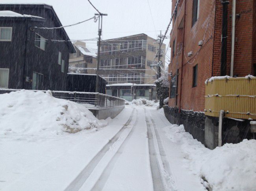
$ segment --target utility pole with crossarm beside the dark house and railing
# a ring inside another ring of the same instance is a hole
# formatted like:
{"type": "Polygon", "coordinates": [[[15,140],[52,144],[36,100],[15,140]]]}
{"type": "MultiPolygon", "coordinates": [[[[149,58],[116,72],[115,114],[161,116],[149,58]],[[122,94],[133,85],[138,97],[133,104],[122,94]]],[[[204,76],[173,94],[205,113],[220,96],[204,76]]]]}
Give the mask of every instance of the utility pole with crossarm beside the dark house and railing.
{"type": "Polygon", "coordinates": [[[98,55],[97,55],[97,70],[96,70],[96,87],[95,92],[99,92],[99,67],[100,67],[100,36],[102,33],[102,16],[108,16],[108,14],[104,13],[95,13],[95,16],[99,18],[99,25],[98,25],[98,55]]]}

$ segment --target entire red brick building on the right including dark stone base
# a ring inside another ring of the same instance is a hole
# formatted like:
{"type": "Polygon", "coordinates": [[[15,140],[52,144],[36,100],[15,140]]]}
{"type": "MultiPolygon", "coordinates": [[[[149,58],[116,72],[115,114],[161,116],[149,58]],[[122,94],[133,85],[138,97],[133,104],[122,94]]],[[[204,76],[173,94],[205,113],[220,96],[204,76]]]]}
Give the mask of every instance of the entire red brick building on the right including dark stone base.
{"type": "MultiPolygon", "coordinates": [[[[180,0],[173,18],[170,99],[165,111],[172,123],[184,124],[186,131],[203,143],[204,82],[211,76],[256,75],[256,0],[236,0],[234,59],[233,1],[180,0]],[[226,12],[223,12],[225,6],[226,12]],[[224,28],[223,18],[226,18],[224,28]],[[226,31],[226,38],[223,31],[226,31]],[[232,60],[234,69],[231,71],[232,60]]],[[[176,0],[173,0],[172,13],[175,4],[176,0]]]]}

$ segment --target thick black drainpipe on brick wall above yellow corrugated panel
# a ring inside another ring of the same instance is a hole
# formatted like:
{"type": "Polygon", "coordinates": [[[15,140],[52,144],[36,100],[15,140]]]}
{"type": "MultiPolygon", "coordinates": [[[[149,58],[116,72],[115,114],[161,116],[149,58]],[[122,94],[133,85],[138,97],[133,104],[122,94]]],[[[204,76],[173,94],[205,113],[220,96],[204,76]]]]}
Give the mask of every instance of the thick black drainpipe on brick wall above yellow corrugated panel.
{"type": "Polygon", "coordinates": [[[221,2],[223,5],[222,13],[222,37],[221,37],[221,76],[226,76],[227,68],[227,35],[228,35],[228,4],[229,1],[221,2]]]}

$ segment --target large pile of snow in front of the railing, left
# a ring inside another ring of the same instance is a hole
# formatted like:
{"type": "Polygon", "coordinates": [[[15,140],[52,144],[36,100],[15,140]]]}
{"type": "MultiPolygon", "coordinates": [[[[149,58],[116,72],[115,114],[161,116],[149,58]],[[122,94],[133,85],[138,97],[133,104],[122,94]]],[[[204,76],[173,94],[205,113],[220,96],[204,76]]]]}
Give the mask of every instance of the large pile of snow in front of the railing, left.
{"type": "Polygon", "coordinates": [[[106,126],[86,107],[54,98],[50,91],[21,90],[0,100],[0,134],[56,135],[106,126]]]}

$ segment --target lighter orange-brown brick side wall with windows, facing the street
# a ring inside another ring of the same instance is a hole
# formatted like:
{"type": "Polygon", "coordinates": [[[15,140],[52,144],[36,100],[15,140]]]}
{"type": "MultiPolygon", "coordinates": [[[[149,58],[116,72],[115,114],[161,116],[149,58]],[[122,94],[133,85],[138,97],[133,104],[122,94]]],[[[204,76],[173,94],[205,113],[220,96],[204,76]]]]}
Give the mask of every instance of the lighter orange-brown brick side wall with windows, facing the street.
{"type": "MultiPolygon", "coordinates": [[[[173,4],[176,1],[173,1],[173,4]]],[[[215,1],[207,0],[200,1],[199,18],[197,22],[192,26],[192,0],[187,0],[186,9],[186,26],[185,26],[185,48],[184,48],[184,69],[182,79],[182,109],[194,109],[196,111],[204,110],[204,81],[211,76],[212,55],[213,55],[213,28],[215,17],[215,1]],[[202,47],[198,46],[198,42],[204,40],[202,47]],[[191,57],[187,56],[187,53],[193,51],[191,57]],[[197,86],[192,87],[193,83],[193,67],[198,64],[198,79],[197,86]]],[[[181,5],[181,9],[184,9],[184,5],[181,5]]],[[[184,10],[180,11],[180,15],[177,16],[178,21],[181,21],[184,16],[184,10]]],[[[176,40],[177,44],[183,41],[183,29],[178,29],[179,23],[176,21],[173,24],[173,31],[171,33],[171,47],[173,40],[176,40]]],[[[176,45],[177,45],[176,44],[176,45]]],[[[172,47],[173,48],[173,47],[172,47]]],[[[176,47],[177,49],[177,47],[176,47]]],[[[178,93],[180,93],[181,87],[181,63],[182,63],[182,51],[180,54],[175,54],[169,65],[169,71],[176,74],[176,69],[179,69],[178,75],[178,93]],[[176,64],[178,62],[178,65],[176,64]]],[[[179,96],[177,103],[179,102],[179,96]]],[[[169,100],[169,106],[175,106],[175,98],[169,100]]]]}

